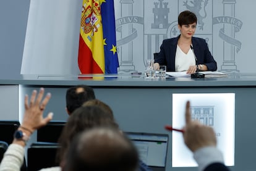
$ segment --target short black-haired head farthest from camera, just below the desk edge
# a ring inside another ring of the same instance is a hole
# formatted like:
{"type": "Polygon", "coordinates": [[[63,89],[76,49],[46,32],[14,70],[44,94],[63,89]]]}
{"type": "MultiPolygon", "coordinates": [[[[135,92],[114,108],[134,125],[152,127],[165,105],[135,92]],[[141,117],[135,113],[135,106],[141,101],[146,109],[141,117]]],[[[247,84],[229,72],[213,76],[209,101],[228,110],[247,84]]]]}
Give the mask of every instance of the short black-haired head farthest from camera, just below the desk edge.
{"type": "Polygon", "coordinates": [[[87,85],[77,85],[70,87],[66,92],[67,114],[72,114],[75,109],[90,99],[95,99],[93,88],[87,85]]]}

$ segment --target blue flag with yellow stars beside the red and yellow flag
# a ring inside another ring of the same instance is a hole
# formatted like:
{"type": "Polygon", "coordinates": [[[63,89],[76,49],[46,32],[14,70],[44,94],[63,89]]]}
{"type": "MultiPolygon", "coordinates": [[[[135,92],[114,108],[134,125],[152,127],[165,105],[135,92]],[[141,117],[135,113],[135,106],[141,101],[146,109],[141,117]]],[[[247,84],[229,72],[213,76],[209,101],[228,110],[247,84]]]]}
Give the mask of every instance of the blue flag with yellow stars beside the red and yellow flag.
{"type": "Polygon", "coordinates": [[[105,73],[117,73],[119,67],[116,48],[116,22],[114,0],[101,1],[101,18],[105,53],[105,73]]]}

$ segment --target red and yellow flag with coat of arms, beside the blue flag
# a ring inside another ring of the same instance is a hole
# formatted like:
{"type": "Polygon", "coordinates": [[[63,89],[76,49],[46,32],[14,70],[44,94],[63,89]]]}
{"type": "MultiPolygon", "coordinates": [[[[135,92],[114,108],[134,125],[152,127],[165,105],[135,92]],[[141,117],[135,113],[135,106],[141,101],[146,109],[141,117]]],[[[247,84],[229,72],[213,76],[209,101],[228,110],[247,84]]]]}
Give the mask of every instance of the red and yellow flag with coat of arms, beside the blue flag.
{"type": "Polygon", "coordinates": [[[78,56],[82,74],[105,73],[101,1],[83,0],[78,56]]]}

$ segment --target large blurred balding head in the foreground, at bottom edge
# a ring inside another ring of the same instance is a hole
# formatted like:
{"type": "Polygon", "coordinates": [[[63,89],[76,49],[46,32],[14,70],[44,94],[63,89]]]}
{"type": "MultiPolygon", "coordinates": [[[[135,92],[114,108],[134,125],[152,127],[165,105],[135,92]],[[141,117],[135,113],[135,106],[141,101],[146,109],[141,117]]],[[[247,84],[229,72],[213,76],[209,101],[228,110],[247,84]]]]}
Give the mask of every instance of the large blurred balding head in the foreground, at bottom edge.
{"type": "Polygon", "coordinates": [[[93,128],[70,144],[65,171],[135,171],[139,155],[134,144],[119,130],[93,128]]]}

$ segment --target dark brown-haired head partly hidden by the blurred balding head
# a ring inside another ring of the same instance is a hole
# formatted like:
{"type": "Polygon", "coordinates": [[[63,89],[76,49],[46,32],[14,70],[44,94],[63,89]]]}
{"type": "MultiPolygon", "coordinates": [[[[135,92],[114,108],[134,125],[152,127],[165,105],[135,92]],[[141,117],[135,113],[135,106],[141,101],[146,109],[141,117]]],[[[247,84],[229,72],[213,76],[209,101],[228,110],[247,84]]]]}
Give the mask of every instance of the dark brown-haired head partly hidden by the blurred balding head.
{"type": "Polygon", "coordinates": [[[59,137],[58,142],[61,148],[56,157],[57,162],[63,161],[67,148],[75,135],[95,127],[118,129],[119,125],[114,121],[113,116],[104,111],[100,106],[82,106],[75,109],[72,115],[69,116],[59,137]]]}

